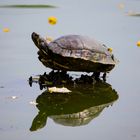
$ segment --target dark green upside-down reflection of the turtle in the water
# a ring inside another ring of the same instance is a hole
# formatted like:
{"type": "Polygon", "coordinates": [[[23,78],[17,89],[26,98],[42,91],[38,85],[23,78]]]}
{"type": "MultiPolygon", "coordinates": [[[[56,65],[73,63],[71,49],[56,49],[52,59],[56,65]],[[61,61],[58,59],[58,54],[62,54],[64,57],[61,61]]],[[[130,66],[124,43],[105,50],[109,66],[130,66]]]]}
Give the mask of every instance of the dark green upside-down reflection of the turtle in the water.
{"type": "Polygon", "coordinates": [[[44,91],[37,97],[36,107],[39,112],[32,122],[31,131],[43,128],[48,117],[65,126],[86,125],[118,99],[111,85],[102,81],[94,85],[67,88],[72,92],[59,94],[44,91]]]}

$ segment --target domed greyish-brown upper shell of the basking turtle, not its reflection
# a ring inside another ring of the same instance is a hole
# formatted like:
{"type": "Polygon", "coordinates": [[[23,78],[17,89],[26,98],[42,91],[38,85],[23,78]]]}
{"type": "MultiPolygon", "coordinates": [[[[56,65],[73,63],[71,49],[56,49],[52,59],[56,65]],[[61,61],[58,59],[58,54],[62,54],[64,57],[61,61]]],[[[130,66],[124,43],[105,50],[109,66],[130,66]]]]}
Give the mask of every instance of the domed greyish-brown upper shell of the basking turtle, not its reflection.
{"type": "Polygon", "coordinates": [[[89,37],[67,35],[49,43],[49,49],[63,57],[79,58],[94,63],[115,65],[117,60],[108,48],[89,37]]]}

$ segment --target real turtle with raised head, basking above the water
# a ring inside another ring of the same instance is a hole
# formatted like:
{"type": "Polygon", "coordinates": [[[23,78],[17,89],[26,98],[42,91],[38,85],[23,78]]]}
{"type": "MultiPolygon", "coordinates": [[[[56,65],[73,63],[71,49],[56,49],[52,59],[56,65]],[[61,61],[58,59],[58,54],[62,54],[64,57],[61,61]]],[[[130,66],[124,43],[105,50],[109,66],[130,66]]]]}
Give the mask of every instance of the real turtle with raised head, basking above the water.
{"type": "Polygon", "coordinates": [[[109,73],[118,60],[105,44],[83,35],[64,35],[50,43],[33,32],[31,38],[38,47],[39,60],[53,70],[93,72],[95,78],[109,73]]]}

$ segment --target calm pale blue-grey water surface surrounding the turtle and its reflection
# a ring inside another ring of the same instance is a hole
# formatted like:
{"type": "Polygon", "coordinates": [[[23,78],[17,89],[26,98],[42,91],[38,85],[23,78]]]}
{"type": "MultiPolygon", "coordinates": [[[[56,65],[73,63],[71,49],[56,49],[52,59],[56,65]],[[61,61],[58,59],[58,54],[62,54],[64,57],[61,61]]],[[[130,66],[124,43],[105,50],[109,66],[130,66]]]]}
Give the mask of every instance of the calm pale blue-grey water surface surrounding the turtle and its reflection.
{"type": "MultiPolygon", "coordinates": [[[[35,4],[28,1],[26,4],[35,4]]],[[[140,18],[127,12],[140,12],[138,0],[40,1],[58,6],[54,9],[0,8],[0,139],[140,139],[140,18]],[[118,7],[120,3],[124,8],[118,7]],[[56,16],[55,26],[48,24],[49,16],[56,16]],[[10,32],[2,29],[8,27],[10,32]],[[113,48],[120,60],[108,75],[107,82],[117,91],[119,99],[104,108],[87,125],[70,127],[55,123],[48,117],[47,124],[31,132],[33,119],[38,114],[31,101],[42,94],[36,84],[29,87],[30,75],[42,74],[46,69],[37,59],[37,48],[31,40],[36,31],[42,36],[57,38],[65,34],[94,37],[113,48]],[[16,96],[14,99],[12,97],[16,96]]],[[[25,4],[25,1],[3,1],[2,4],[25,4]]]]}

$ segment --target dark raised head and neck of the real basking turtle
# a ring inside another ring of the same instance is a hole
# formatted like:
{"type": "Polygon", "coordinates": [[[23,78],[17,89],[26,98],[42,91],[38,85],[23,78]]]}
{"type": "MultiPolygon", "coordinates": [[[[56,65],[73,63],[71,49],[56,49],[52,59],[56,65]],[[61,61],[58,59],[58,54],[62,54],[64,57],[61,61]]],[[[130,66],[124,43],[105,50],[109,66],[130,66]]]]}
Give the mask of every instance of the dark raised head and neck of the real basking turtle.
{"type": "Polygon", "coordinates": [[[34,44],[39,49],[43,49],[43,50],[47,49],[48,44],[47,44],[46,40],[43,37],[41,37],[39,34],[37,34],[35,32],[32,33],[31,37],[32,37],[32,40],[33,40],[34,44]]]}

